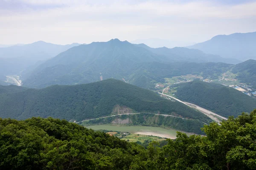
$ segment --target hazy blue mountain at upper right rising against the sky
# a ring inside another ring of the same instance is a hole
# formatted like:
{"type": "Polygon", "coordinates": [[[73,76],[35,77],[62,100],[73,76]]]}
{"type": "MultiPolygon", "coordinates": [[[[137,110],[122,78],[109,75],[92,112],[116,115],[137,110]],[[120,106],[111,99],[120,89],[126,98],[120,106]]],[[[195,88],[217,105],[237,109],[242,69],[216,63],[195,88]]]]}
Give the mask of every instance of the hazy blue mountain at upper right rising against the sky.
{"type": "Polygon", "coordinates": [[[207,54],[216,54],[224,58],[242,61],[256,59],[256,32],[217,35],[211,40],[188,46],[207,54]]]}

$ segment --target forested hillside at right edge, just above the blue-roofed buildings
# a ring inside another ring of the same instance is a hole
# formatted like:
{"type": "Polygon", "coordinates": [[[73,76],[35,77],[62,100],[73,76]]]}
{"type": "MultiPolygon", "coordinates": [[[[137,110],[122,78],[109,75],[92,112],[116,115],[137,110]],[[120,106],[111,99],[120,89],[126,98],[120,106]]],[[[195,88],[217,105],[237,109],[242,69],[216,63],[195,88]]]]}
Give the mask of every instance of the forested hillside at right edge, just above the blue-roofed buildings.
{"type": "Polygon", "coordinates": [[[247,83],[252,85],[253,88],[256,90],[256,60],[249,59],[245,62],[237,64],[235,67],[232,68],[232,72],[234,74],[238,74],[236,77],[241,82],[247,83]]]}

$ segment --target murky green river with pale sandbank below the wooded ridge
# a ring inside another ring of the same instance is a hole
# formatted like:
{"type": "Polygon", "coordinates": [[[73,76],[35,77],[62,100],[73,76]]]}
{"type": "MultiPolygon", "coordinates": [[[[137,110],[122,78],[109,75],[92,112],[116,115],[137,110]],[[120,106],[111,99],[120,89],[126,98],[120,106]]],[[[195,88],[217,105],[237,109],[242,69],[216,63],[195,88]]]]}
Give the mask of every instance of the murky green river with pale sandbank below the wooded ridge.
{"type": "Polygon", "coordinates": [[[91,128],[93,130],[112,130],[119,132],[129,132],[129,133],[137,133],[141,135],[147,136],[159,136],[163,138],[176,138],[177,130],[173,129],[164,129],[161,127],[152,127],[152,126],[113,126],[113,125],[93,125],[87,126],[87,128],[91,128]]]}

